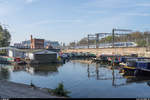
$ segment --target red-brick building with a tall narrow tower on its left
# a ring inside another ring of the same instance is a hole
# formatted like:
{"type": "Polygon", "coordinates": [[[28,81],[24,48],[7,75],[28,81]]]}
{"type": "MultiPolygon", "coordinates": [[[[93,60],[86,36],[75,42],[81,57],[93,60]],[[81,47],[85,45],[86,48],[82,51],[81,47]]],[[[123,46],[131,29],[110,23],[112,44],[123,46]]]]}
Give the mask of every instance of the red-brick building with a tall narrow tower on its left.
{"type": "Polygon", "coordinates": [[[44,49],[44,39],[36,39],[31,35],[31,49],[44,49]]]}

